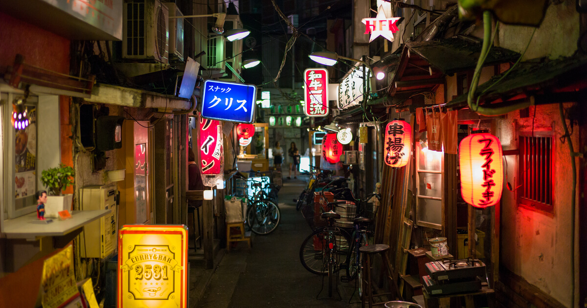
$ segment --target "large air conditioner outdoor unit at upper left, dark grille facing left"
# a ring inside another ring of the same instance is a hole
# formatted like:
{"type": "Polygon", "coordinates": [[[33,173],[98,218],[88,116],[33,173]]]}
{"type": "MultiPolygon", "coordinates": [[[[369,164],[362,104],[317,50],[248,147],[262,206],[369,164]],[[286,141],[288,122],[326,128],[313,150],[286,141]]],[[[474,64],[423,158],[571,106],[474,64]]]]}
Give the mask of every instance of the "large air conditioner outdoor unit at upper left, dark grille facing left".
{"type": "Polygon", "coordinates": [[[122,57],[168,63],[168,9],[159,0],[124,0],[122,57]]]}

